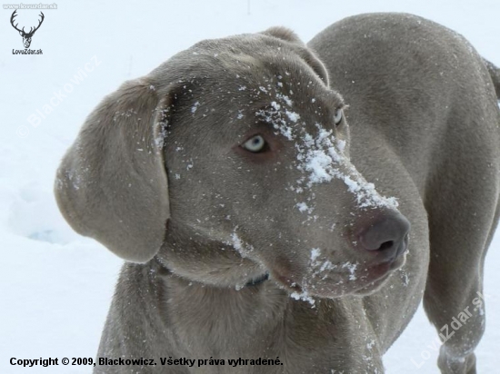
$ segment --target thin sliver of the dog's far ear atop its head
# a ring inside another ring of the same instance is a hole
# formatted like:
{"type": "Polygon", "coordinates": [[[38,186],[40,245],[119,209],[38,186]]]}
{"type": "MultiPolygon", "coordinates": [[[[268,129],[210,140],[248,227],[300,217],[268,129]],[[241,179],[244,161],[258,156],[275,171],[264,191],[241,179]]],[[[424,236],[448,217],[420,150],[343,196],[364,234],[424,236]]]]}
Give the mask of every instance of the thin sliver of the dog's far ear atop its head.
{"type": "Polygon", "coordinates": [[[307,47],[292,30],[282,26],[275,26],[268,28],[261,34],[273,36],[285,42],[295,44],[296,54],[302,57],[306,64],[311,66],[315,74],[321,78],[326,86],[329,85],[328,72],[326,71],[325,64],[320,61],[316,54],[309,47],[307,47]]]}

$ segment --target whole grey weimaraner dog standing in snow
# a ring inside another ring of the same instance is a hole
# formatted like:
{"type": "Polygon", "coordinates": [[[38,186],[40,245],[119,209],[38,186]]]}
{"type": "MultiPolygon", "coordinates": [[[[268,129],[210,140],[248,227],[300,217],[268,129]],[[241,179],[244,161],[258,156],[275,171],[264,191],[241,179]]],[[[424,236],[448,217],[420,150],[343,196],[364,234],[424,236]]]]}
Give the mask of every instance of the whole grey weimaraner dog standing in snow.
{"type": "Polygon", "coordinates": [[[205,40],[123,84],[55,183],[127,261],[95,373],[383,373],[422,298],[441,371],[475,373],[499,94],[403,14],[205,40]]]}

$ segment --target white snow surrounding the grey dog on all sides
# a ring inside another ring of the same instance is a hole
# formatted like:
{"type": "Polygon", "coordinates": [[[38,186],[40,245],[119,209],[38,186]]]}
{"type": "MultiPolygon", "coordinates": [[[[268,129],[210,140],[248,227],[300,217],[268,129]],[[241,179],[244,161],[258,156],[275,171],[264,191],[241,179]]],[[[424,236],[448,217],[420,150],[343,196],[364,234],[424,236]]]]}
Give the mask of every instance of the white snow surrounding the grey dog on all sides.
{"type": "MultiPolygon", "coordinates": [[[[57,10],[44,11],[44,24],[33,37],[31,48],[42,48],[43,55],[29,56],[12,54],[13,48],[23,48],[22,40],[9,24],[12,10],[0,10],[0,373],[91,371],[78,366],[23,369],[10,366],[9,359],[95,356],[121,261],[71,231],[55,207],[52,184],[85,115],[125,79],[146,74],[204,38],[285,25],[309,40],[347,15],[374,11],[424,15],[464,34],[500,64],[497,0],[124,3],[58,1],[57,10]],[[75,80],[87,63],[94,70],[75,80]],[[53,99],[58,92],[65,97],[53,99]],[[36,111],[51,100],[57,103],[52,113],[36,126],[27,120],[39,116],[36,111]]],[[[18,13],[21,25],[35,25],[38,12],[18,13]]],[[[477,349],[480,373],[498,372],[500,366],[498,263],[500,234],[486,261],[488,322],[477,349]]],[[[420,310],[386,355],[387,373],[437,373],[435,359],[435,333],[420,310]],[[427,352],[430,358],[422,359],[427,352]]]]}

